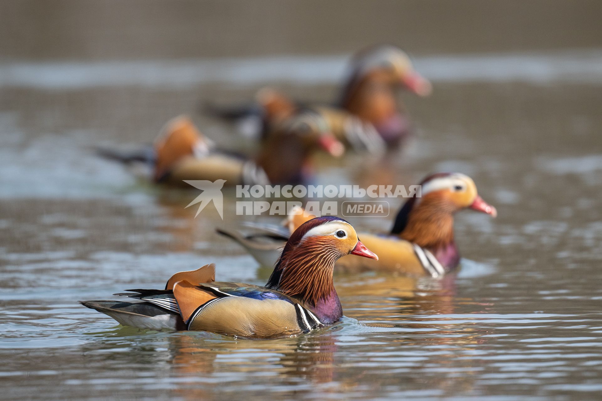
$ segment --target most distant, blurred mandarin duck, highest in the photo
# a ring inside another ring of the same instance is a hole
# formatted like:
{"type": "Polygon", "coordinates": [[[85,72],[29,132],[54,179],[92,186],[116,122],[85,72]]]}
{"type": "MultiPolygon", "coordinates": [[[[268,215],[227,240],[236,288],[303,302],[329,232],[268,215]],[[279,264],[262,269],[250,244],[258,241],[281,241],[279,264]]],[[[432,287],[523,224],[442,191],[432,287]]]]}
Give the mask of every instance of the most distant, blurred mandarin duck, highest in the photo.
{"type": "Polygon", "coordinates": [[[338,138],[357,150],[373,152],[372,147],[402,144],[411,132],[408,115],[398,100],[400,88],[418,96],[428,96],[432,91],[430,82],[414,70],[408,55],[399,47],[386,44],[368,47],[352,58],[338,99],[331,106],[301,105],[272,88],[264,88],[256,94],[252,106],[220,108],[209,105],[206,109],[210,114],[237,121],[241,132],[249,136],[259,136],[258,132],[264,132],[270,124],[287,118],[300,108],[314,109],[326,118],[345,121],[342,126],[348,128],[337,131],[338,138]],[[358,127],[352,127],[358,122],[362,126],[359,133],[358,127]],[[371,136],[373,131],[380,138],[371,136]],[[366,147],[368,139],[376,143],[366,147]]]}

